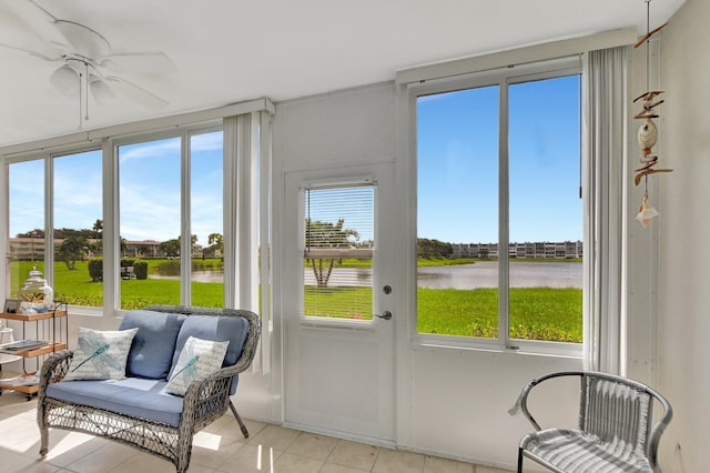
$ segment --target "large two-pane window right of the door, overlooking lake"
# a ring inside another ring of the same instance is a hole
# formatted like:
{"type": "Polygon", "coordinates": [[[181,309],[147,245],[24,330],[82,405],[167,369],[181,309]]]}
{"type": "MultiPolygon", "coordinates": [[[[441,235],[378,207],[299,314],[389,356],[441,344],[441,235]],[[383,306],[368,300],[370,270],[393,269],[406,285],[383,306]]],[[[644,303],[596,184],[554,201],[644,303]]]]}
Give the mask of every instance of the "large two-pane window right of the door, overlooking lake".
{"type": "Polygon", "coordinates": [[[578,350],[579,67],[511,68],[415,93],[418,333],[578,350]]]}

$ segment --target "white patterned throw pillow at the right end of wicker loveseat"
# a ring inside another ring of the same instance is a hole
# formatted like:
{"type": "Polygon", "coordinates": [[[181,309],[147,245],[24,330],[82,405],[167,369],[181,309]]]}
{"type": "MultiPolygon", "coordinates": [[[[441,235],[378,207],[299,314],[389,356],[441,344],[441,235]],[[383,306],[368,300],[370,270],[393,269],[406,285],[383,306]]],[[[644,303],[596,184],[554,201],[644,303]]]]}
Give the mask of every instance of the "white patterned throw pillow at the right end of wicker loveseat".
{"type": "Polygon", "coordinates": [[[175,364],[165,386],[165,392],[185,395],[190,383],[222,368],[229,345],[229,341],[214,342],[190,336],[180,352],[178,364],[175,364]]]}

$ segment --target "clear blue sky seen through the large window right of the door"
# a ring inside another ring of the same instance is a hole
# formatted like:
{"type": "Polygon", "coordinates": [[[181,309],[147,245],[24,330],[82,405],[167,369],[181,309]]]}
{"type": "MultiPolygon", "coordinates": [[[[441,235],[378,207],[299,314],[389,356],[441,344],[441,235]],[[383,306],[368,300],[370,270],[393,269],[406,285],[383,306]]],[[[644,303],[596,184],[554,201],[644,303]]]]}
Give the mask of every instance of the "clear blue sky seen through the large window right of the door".
{"type": "MultiPolygon", "coordinates": [[[[498,89],[417,104],[418,236],[498,241],[498,89]]],[[[510,241],[582,239],[579,78],[509,89],[510,241]]]]}

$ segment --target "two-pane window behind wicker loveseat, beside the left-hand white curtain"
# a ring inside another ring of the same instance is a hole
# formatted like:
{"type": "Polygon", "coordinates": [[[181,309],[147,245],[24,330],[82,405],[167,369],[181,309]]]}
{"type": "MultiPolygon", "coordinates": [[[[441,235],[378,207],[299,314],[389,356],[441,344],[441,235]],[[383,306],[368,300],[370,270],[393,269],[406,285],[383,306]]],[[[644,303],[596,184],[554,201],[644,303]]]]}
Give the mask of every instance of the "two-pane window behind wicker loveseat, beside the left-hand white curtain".
{"type": "Polygon", "coordinates": [[[122,144],[118,155],[121,309],[223,306],[222,131],[122,144]]]}

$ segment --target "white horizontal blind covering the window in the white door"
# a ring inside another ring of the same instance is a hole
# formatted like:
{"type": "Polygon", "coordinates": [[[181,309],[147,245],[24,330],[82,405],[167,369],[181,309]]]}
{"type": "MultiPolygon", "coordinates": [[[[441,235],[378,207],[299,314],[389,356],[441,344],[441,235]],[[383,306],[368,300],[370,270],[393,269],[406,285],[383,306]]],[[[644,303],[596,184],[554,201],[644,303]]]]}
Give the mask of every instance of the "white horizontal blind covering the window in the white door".
{"type": "Polygon", "coordinates": [[[372,320],[375,188],[304,188],[305,316],[372,320]]]}

